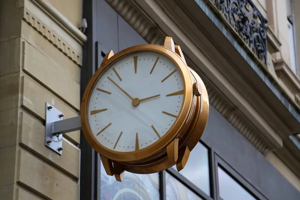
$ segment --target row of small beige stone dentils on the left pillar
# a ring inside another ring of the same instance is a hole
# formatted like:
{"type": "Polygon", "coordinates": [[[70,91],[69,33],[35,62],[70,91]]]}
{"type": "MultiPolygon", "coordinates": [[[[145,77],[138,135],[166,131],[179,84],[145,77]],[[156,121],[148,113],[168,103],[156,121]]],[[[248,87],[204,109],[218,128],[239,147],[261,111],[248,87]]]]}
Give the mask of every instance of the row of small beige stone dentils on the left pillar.
{"type": "Polygon", "coordinates": [[[23,20],[32,26],[38,33],[40,33],[73,62],[81,66],[81,54],[75,52],[70,45],[63,41],[53,30],[47,27],[40,19],[38,19],[26,8],[24,8],[23,20]]]}

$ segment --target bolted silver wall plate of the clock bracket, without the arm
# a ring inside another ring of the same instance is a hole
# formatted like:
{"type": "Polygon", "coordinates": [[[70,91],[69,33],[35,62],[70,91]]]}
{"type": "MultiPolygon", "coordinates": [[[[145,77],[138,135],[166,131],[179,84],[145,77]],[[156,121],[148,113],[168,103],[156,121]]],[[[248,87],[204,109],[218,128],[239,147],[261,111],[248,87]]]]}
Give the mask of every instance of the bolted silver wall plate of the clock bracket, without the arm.
{"type": "Polygon", "coordinates": [[[62,154],[62,150],[58,150],[59,147],[62,147],[62,134],[53,135],[53,122],[62,120],[62,117],[59,117],[60,112],[53,105],[46,102],[46,117],[45,117],[45,146],[51,148],[58,154],[62,154]],[[50,108],[51,107],[51,108],[50,108]]]}

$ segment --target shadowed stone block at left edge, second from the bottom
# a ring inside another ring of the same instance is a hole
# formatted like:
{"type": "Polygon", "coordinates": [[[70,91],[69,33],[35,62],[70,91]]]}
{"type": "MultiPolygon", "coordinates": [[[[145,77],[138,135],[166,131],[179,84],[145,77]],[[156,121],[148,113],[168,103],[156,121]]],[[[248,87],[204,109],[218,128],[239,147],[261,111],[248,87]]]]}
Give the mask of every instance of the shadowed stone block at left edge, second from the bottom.
{"type": "Polygon", "coordinates": [[[14,183],[16,145],[0,148],[0,187],[14,183]]]}

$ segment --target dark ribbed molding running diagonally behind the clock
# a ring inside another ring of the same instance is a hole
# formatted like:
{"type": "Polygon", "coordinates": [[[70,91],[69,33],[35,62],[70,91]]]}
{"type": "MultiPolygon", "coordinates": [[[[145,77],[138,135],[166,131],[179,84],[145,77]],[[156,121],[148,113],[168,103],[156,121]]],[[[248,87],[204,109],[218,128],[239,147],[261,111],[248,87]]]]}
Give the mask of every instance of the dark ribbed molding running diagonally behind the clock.
{"type": "MultiPolygon", "coordinates": [[[[131,0],[105,0],[147,42],[162,44],[165,34],[131,0]]],[[[273,151],[269,142],[229,101],[203,79],[209,103],[221,113],[263,155],[273,151]]]]}

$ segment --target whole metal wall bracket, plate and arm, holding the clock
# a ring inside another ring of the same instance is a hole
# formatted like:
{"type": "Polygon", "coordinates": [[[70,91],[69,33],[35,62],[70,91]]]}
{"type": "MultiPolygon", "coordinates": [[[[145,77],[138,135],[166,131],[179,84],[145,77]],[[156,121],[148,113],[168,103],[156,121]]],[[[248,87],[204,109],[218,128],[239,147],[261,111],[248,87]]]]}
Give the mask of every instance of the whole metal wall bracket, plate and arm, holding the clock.
{"type": "Polygon", "coordinates": [[[45,109],[45,146],[61,155],[63,150],[62,134],[80,130],[80,116],[63,119],[63,113],[47,102],[45,109]]]}

